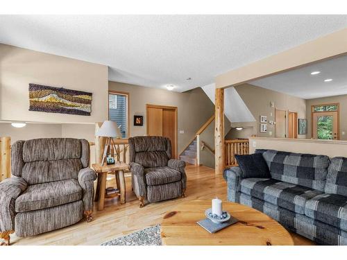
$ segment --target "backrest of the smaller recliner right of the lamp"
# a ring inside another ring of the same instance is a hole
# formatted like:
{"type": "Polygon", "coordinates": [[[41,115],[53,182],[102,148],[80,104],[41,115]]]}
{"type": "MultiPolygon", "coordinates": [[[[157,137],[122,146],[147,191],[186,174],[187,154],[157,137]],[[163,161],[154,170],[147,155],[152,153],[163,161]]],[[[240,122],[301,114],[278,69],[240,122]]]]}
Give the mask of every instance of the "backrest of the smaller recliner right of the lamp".
{"type": "Polygon", "coordinates": [[[130,137],[130,162],[144,168],[167,166],[171,159],[171,141],[167,137],[130,137]]]}

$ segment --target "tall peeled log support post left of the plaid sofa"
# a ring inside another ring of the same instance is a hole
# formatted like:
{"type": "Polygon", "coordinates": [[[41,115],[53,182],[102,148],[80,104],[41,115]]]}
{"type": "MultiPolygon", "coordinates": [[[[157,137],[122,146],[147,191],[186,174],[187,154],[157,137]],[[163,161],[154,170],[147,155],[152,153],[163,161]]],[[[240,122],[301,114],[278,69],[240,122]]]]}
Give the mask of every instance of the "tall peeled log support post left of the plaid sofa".
{"type": "Polygon", "coordinates": [[[224,153],[224,89],[216,89],[214,124],[214,171],[217,174],[223,174],[226,156],[224,153]]]}

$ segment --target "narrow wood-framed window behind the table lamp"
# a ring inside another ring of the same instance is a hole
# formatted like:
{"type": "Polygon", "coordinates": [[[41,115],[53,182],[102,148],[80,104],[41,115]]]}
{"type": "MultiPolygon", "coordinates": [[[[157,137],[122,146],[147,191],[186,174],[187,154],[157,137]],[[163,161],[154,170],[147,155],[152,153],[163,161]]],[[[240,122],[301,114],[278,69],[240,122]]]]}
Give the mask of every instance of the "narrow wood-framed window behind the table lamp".
{"type": "Polygon", "coordinates": [[[121,138],[128,138],[128,94],[108,93],[108,120],[115,121],[121,130],[121,138]]]}

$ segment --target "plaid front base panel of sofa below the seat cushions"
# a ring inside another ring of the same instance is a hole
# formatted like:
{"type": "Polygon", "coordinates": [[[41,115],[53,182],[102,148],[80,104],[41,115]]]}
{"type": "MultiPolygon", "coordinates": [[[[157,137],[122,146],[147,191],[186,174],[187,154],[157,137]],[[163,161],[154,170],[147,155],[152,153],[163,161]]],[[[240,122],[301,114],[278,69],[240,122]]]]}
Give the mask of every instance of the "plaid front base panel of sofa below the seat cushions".
{"type": "Polygon", "coordinates": [[[239,193],[238,197],[241,204],[264,212],[264,214],[277,220],[285,228],[316,243],[322,245],[347,245],[347,232],[342,229],[244,193],[239,193]]]}

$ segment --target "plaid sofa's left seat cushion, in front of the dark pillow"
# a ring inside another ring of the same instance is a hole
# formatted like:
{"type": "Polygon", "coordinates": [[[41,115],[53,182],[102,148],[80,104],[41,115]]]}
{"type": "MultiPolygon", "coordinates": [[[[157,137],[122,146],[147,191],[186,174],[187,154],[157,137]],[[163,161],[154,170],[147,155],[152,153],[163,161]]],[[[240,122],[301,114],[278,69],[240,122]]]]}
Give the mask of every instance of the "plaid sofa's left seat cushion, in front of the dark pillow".
{"type": "Polygon", "coordinates": [[[300,185],[264,178],[242,180],[241,192],[298,214],[305,214],[307,200],[322,193],[300,185]]]}

